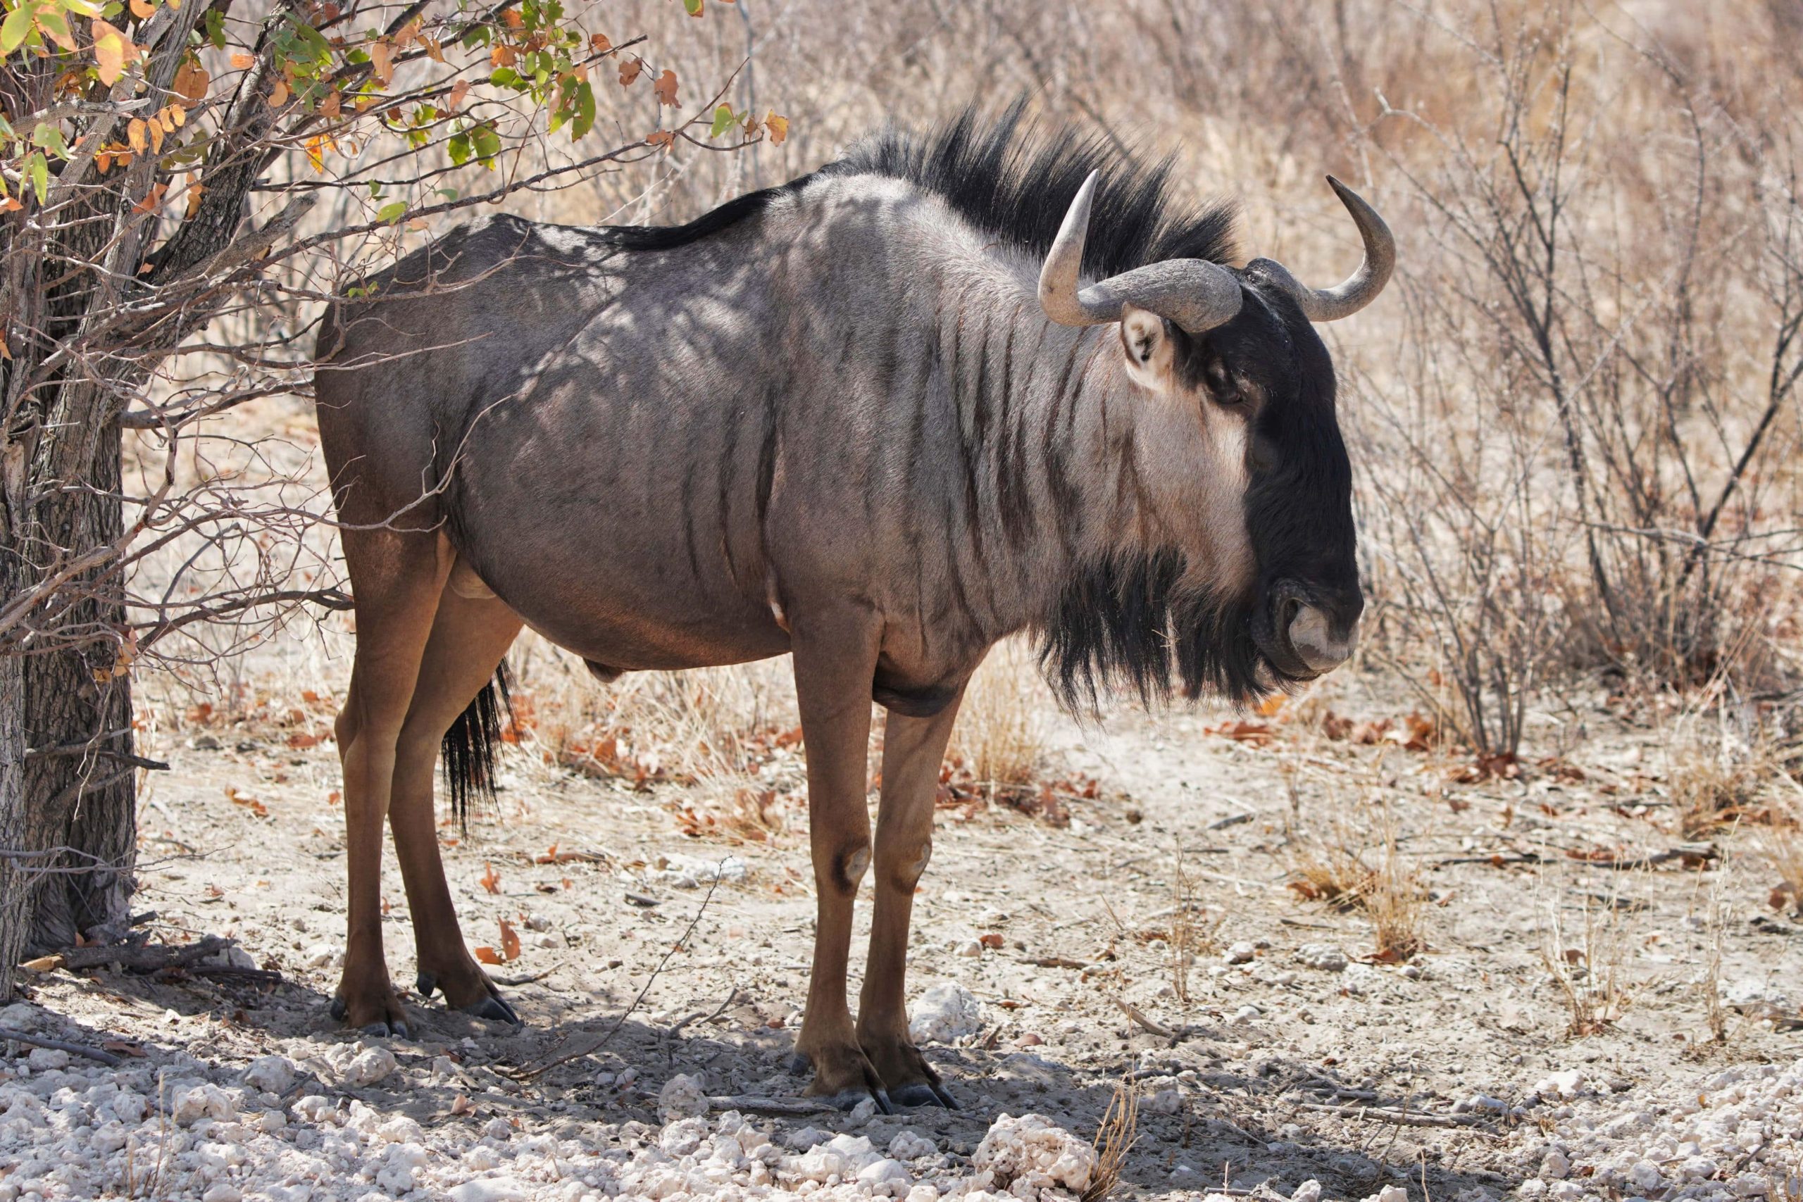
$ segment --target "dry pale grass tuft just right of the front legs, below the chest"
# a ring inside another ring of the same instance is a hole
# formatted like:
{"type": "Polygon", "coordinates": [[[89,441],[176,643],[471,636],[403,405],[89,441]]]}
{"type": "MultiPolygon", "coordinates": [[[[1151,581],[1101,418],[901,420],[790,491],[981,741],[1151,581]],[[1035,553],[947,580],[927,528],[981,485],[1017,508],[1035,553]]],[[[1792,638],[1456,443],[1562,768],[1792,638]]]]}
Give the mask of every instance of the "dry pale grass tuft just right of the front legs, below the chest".
{"type": "Polygon", "coordinates": [[[990,793],[1030,786],[1046,753],[1048,701],[1028,642],[997,643],[965,690],[950,755],[990,793]]]}

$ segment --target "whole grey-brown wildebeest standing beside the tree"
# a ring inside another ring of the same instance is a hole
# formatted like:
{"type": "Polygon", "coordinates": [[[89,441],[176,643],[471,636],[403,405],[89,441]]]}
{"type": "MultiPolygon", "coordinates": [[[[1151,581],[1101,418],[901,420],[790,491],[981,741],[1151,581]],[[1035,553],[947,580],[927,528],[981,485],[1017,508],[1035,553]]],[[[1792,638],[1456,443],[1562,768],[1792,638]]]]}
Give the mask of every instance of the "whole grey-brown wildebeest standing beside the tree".
{"type": "Polygon", "coordinates": [[[337,305],[317,404],[357,652],[335,1013],[404,1033],[386,816],[422,993],[514,1020],[458,930],[433,762],[442,742],[456,802],[485,786],[521,625],[604,681],[788,652],[819,888],[810,1092],[950,1103],[909,1040],[903,961],[984,652],[1037,634],[1084,706],[1111,681],[1248,699],[1352,649],[1350,465],[1311,323],[1368,305],[1394,249],[1332,186],[1365,260],[1314,290],[1269,260],[1224,267],[1231,209],[1185,213],[1165,169],[966,115],[687,225],[496,216],[337,305]]]}

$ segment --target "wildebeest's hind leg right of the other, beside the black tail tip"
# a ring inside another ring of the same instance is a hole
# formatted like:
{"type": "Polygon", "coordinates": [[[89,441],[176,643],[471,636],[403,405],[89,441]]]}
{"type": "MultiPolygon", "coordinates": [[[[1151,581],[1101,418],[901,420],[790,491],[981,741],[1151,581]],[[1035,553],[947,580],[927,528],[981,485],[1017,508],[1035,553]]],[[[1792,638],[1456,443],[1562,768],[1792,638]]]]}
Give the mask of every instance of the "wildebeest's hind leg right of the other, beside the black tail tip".
{"type": "Polygon", "coordinates": [[[519,1016],[469,953],[438,858],[433,766],[445,732],[494,678],[519,625],[519,616],[501,600],[463,596],[456,587],[445,587],[420,661],[413,705],[395,746],[393,800],[388,807],[400,879],[407,887],[407,910],[413,914],[420,993],[444,989],[453,1009],[505,1022],[519,1022],[519,1016]]]}

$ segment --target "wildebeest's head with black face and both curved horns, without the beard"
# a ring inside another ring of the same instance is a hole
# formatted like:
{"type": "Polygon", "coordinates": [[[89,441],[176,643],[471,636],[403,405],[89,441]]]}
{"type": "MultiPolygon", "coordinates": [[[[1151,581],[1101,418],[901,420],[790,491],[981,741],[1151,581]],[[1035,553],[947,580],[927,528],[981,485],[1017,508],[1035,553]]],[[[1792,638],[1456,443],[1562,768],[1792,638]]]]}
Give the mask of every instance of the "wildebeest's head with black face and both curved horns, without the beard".
{"type": "MultiPolygon", "coordinates": [[[[1396,249],[1383,218],[1329,177],[1365,241],[1341,285],[1307,288],[1280,263],[1242,270],[1168,260],[1080,287],[1096,175],[1084,182],[1046,256],[1039,297],[1060,324],[1120,323],[1127,373],[1194,405],[1206,442],[1231,447],[1215,470],[1242,490],[1251,638],[1278,681],[1313,679],[1352,654],[1358,584],[1352,470],[1334,416],[1334,368],[1313,323],[1336,321],[1383,290],[1396,249]]],[[[1204,515],[1199,515],[1204,517],[1204,515]]]]}

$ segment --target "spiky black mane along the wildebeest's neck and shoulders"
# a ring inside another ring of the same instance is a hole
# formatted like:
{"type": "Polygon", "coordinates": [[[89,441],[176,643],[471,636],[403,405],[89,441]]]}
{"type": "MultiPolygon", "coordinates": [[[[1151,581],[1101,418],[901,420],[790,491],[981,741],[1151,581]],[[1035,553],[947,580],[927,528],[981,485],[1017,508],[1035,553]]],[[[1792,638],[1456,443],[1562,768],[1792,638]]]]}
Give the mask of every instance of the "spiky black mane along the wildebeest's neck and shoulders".
{"type": "Polygon", "coordinates": [[[966,108],[932,133],[889,128],[844,159],[777,187],[736,196],[687,225],[615,225],[604,236],[626,250],[669,250],[707,238],[795,193],[817,175],[887,175],[945,200],[983,232],[1046,254],[1066,209],[1091,171],[1102,171],[1084,245],[1084,270],[1116,276],[1163,260],[1233,258],[1233,202],[1190,211],[1170,195],[1172,162],[1147,164],[1098,133],[1042,132],[1017,101],[988,119],[966,108]]]}

